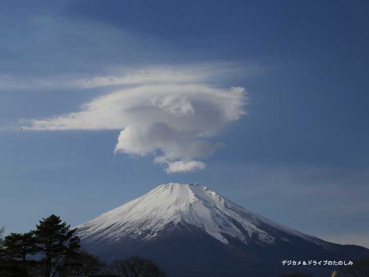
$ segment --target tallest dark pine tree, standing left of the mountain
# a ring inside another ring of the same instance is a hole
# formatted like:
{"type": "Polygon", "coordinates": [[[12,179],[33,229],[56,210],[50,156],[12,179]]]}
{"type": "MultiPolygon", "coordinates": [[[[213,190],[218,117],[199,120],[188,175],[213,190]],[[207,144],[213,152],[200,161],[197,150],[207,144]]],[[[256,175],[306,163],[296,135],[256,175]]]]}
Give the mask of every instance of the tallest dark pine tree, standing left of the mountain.
{"type": "Polygon", "coordinates": [[[55,214],[43,218],[36,228],[37,246],[44,254],[45,277],[54,277],[67,259],[78,255],[79,238],[74,235],[77,229],[70,230],[70,225],[55,214]]]}

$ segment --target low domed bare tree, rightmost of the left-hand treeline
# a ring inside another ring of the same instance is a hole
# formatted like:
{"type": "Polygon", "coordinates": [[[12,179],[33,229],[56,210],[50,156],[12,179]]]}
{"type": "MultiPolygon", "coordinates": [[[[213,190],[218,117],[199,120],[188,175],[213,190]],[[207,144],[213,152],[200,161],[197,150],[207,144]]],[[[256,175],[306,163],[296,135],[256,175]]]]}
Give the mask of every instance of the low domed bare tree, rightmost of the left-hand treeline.
{"type": "Polygon", "coordinates": [[[166,277],[167,274],[152,261],[132,257],[128,260],[113,261],[112,269],[119,277],[166,277]]]}

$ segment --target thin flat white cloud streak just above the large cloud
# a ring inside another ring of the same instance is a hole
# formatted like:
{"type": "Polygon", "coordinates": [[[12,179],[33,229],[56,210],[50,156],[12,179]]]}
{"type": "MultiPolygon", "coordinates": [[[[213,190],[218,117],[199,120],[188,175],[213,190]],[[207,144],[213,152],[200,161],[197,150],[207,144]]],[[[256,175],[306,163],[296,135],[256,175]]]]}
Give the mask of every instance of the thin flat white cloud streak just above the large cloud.
{"type": "Polygon", "coordinates": [[[59,73],[44,76],[0,73],[1,90],[29,89],[93,89],[148,84],[189,84],[220,82],[229,75],[243,77],[258,74],[261,66],[236,66],[232,63],[199,63],[190,66],[119,66],[106,69],[105,74],[59,73]]]}

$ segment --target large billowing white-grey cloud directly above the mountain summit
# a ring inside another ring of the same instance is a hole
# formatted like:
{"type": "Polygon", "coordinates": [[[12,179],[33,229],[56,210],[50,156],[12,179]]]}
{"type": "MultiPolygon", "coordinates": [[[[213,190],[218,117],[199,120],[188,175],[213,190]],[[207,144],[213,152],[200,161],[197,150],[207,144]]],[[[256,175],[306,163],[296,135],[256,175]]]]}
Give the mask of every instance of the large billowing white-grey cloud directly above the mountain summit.
{"type": "Polygon", "coordinates": [[[167,173],[201,170],[220,144],[208,141],[245,112],[241,87],[146,85],[95,98],[72,112],[29,120],[32,130],[121,130],[115,153],[146,156],[167,173]]]}

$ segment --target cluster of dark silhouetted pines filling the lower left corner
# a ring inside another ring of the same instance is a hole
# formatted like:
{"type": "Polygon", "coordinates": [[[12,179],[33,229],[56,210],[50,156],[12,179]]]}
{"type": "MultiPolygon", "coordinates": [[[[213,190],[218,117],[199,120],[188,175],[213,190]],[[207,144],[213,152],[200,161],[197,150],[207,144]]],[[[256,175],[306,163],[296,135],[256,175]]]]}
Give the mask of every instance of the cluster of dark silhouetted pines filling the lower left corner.
{"type": "Polygon", "coordinates": [[[2,239],[4,228],[0,229],[0,276],[59,277],[72,264],[82,267],[72,263],[83,256],[75,231],[54,214],[40,221],[35,231],[11,233],[2,239]],[[34,255],[37,259],[33,260],[34,255]]]}

